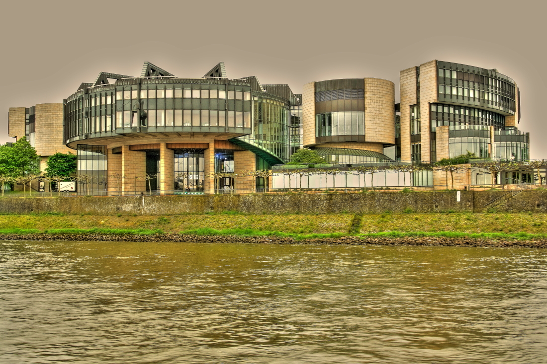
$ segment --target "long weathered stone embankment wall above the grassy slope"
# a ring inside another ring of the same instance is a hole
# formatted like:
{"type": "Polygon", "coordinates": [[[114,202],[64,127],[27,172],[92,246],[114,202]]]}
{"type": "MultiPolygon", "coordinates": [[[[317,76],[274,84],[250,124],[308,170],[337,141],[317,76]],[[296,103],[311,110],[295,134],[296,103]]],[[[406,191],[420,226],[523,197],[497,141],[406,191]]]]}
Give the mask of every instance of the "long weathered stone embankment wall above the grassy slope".
{"type": "Polygon", "coordinates": [[[0,198],[3,214],[336,214],[416,212],[547,213],[547,191],[367,192],[330,194],[0,198]]]}

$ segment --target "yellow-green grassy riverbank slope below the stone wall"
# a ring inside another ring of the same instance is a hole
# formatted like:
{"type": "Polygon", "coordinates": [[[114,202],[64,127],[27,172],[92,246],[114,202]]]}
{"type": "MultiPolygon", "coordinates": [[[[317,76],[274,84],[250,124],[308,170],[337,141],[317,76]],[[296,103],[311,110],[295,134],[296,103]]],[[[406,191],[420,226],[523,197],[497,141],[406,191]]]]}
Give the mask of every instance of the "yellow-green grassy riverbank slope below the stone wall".
{"type": "MultiPolygon", "coordinates": [[[[0,230],[109,234],[288,234],[331,237],[348,233],[352,214],[335,215],[0,215],[0,230]],[[208,230],[207,230],[208,229],[208,230]]],[[[365,214],[359,233],[547,234],[547,214],[365,214]]],[[[30,232],[29,232],[30,233],[30,232]]],[[[433,235],[432,235],[433,236],[433,235]]]]}

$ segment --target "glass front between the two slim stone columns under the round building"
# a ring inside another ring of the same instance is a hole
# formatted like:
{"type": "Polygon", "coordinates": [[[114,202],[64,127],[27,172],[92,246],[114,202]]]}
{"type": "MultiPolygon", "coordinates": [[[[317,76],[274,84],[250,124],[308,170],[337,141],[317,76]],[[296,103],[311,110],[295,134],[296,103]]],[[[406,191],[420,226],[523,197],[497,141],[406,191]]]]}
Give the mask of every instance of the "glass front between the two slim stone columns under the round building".
{"type": "Polygon", "coordinates": [[[202,191],[205,185],[204,149],[177,149],[174,151],[174,189],[202,191]]]}

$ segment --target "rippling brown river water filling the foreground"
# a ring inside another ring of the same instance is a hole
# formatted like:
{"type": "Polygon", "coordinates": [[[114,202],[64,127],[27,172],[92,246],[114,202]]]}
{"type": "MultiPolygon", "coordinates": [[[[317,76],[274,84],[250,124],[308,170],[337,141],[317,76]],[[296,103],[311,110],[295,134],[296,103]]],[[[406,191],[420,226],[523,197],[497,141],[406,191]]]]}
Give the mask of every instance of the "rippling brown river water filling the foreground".
{"type": "Polygon", "coordinates": [[[1,363],[547,362],[547,250],[0,244],[1,363]]]}

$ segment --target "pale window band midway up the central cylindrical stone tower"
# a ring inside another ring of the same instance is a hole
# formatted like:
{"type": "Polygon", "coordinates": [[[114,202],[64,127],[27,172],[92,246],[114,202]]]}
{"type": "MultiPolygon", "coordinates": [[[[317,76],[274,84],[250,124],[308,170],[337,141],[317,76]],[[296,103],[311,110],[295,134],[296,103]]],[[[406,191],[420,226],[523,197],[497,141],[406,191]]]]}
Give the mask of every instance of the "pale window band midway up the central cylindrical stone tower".
{"type": "Polygon", "coordinates": [[[363,111],[317,114],[315,122],[316,137],[365,134],[365,113],[363,111]]]}

